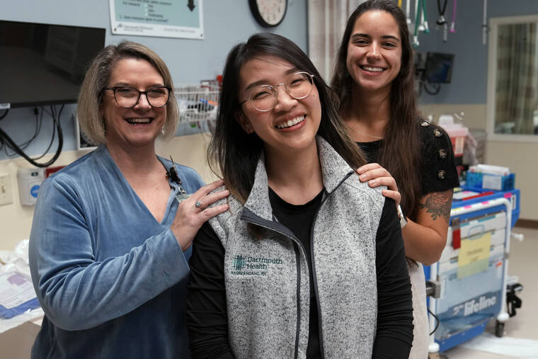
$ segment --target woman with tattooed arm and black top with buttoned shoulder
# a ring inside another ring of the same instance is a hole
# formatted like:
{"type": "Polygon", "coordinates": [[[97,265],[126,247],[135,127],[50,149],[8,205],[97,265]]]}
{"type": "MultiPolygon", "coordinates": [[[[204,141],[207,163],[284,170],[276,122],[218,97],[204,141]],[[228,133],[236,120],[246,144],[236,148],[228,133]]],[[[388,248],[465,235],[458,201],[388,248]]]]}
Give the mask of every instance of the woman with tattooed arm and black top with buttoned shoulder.
{"type": "Polygon", "coordinates": [[[358,170],[361,181],[379,186],[394,183],[390,176],[396,180],[384,195],[396,202],[401,195],[413,288],[411,358],[426,358],[428,316],[420,263],[435,263],[445,248],[452,190],[459,183],[450,139],[440,127],[420,120],[406,17],[394,1],[366,1],[350,16],[332,86],[350,136],[371,162],[358,170]]]}

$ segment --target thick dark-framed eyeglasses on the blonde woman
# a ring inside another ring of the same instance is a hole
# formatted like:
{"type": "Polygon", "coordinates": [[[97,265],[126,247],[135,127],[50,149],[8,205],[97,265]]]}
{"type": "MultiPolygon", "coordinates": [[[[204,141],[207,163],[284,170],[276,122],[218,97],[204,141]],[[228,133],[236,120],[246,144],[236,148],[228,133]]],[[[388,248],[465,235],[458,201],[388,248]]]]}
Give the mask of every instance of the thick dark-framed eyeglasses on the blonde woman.
{"type": "Polygon", "coordinates": [[[105,87],[103,91],[113,91],[114,100],[123,108],[135,107],[140,101],[140,95],[145,95],[151,107],[163,107],[168,103],[172,89],[168,86],[154,86],[146,91],[139,91],[131,86],[105,87]]]}

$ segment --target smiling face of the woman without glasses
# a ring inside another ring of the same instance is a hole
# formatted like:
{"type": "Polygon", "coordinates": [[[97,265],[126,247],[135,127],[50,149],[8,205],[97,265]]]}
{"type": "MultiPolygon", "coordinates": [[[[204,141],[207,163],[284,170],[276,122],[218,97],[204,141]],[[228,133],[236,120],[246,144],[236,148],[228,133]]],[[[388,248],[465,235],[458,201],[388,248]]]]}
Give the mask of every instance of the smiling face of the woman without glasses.
{"type": "Polygon", "coordinates": [[[390,93],[401,67],[401,36],[390,13],[370,10],[357,18],[346,66],[360,91],[390,93]]]}

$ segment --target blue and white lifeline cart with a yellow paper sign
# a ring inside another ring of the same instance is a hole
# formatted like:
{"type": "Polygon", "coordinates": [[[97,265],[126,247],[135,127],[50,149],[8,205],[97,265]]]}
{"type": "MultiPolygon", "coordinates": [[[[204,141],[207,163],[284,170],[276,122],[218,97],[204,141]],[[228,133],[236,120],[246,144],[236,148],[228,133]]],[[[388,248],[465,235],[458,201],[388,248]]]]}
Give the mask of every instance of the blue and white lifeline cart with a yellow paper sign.
{"type": "Polygon", "coordinates": [[[430,335],[430,353],[446,351],[479,336],[491,319],[496,319],[496,335],[503,335],[509,318],[506,287],[510,235],[519,217],[519,202],[520,190],[514,189],[452,203],[447,246],[437,263],[424,267],[425,278],[440,287],[438,298],[428,297],[428,309],[435,314],[429,314],[430,330],[437,325],[430,335]],[[461,241],[485,235],[491,236],[488,268],[458,278],[461,241]]]}

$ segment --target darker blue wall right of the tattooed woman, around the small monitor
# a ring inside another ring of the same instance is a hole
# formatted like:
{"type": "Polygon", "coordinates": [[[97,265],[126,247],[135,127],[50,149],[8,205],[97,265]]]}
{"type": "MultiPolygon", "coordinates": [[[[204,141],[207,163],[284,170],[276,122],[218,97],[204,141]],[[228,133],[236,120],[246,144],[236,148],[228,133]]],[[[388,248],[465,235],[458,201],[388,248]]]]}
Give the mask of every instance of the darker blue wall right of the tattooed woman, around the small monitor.
{"type": "MultiPolygon", "coordinates": [[[[420,103],[486,103],[488,82],[488,44],[482,44],[483,0],[459,0],[456,13],[456,33],[442,41],[442,30],[435,30],[437,0],[426,1],[429,34],[420,34],[417,52],[454,53],[452,82],[441,86],[436,96],[422,92],[420,103]]],[[[523,16],[538,14],[537,0],[488,0],[487,16],[523,16]]],[[[452,20],[452,1],[445,17],[452,20]]]]}

